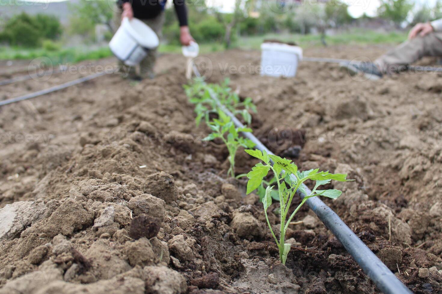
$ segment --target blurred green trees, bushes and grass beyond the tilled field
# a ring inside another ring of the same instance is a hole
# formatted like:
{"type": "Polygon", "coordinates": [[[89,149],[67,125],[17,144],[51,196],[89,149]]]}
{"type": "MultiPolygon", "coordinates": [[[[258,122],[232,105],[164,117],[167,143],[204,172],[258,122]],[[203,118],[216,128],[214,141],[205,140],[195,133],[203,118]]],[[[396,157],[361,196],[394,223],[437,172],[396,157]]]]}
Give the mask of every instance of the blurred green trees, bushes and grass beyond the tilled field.
{"type": "MultiPolygon", "coordinates": [[[[413,0],[381,0],[375,17],[358,19],[341,0],[236,0],[230,13],[204,0],[186,3],[191,33],[202,52],[259,49],[264,39],[275,38],[304,47],[399,43],[410,26],[442,17],[441,3],[430,6],[413,0]]],[[[14,10],[19,4],[3,6],[10,10],[0,12],[0,59],[48,56],[56,62],[76,62],[111,55],[107,42],[116,29],[114,0],[72,0],[46,4],[48,9],[36,5],[33,10],[14,10]]],[[[165,19],[160,52],[179,52],[173,7],[165,10],[165,19]]]]}

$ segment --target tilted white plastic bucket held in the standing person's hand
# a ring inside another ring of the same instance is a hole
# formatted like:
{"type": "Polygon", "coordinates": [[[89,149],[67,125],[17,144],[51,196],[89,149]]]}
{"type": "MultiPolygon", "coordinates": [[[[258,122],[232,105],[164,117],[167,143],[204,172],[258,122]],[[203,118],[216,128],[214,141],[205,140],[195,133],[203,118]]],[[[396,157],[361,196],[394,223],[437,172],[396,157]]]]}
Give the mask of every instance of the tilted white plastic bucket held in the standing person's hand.
{"type": "Polygon", "coordinates": [[[135,66],[146,56],[147,51],[160,44],[156,33],[139,19],[124,18],[121,26],[109,42],[112,53],[128,66],[135,66]]]}

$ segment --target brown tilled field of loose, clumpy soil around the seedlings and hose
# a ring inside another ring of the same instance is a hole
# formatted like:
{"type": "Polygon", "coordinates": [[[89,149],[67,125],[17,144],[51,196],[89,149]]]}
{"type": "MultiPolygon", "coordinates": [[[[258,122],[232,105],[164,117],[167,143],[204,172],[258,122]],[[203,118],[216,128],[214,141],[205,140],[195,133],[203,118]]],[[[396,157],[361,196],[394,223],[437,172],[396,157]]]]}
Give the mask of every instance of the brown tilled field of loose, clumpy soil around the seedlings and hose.
{"type": "MultiPolygon", "coordinates": [[[[254,134],[272,151],[356,179],[336,183],[343,196],[327,204],[411,290],[442,292],[440,75],[358,82],[336,65],[302,63],[284,79],[256,74],[259,52],[202,61],[210,82],[229,77],[254,100],[254,134]]],[[[0,108],[0,293],[379,292],[307,207],[280,264],[258,197],[226,176],[225,149],[201,141],[208,130],[195,127],[183,92],[184,58],[160,57],[157,72],[0,108]]],[[[51,83],[3,86],[2,99],[51,83]]],[[[255,163],[240,152],[236,172],[255,163]]]]}

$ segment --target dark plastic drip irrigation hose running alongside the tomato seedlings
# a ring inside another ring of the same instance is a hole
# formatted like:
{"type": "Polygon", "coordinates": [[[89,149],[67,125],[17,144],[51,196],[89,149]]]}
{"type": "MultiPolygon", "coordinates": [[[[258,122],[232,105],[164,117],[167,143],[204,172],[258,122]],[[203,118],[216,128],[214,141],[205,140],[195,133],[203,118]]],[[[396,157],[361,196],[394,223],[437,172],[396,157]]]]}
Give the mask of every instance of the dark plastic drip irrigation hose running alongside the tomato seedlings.
{"type": "MultiPolygon", "coordinates": [[[[196,66],[194,73],[200,77],[196,66]]],[[[213,92],[210,92],[210,97],[216,101],[218,107],[232,119],[236,127],[244,127],[244,125],[232,114],[224,105],[222,105],[213,92]]],[[[245,138],[255,143],[255,148],[266,151],[268,154],[273,154],[266,146],[261,143],[252,133],[242,133],[245,138]]],[[[293,180],[296,180],[295,175],[291,175],[293,180]]],[[[302,184],[305,191],[310,194],[312,191],[302,184]]],[[[298,190],[301,198],[306,195],[298,190]]],[[[328,207],[318,197],[311,197],[306,201],[307,205],[315,212],[316,216],[324,223],[324,225],[336,236],[344,248],[351,254],[354,260],[359,264],[362,270],[368,277],[376,284],[379,290],[384,294],[402,294],[412,293],[390,270],[389,268],[368,248],[361,239],[354,234],[354,232],[341,220],[341,218],[328,207]]]]}

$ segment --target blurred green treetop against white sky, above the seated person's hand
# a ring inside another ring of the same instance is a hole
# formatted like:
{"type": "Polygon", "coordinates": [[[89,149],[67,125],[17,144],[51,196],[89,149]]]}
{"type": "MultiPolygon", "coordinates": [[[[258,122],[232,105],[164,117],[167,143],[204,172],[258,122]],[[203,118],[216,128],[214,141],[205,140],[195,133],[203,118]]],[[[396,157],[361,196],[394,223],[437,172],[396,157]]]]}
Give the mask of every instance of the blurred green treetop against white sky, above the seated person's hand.
{"type": "Polygon", "coordinates": [[[399,28],[407,19],[408,13],[414,4],[410,0],[381,0],[378,8],[378,15],[384,19],[389,19],[399,28]]]}

